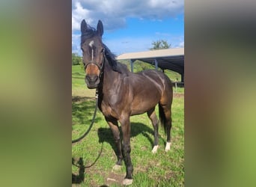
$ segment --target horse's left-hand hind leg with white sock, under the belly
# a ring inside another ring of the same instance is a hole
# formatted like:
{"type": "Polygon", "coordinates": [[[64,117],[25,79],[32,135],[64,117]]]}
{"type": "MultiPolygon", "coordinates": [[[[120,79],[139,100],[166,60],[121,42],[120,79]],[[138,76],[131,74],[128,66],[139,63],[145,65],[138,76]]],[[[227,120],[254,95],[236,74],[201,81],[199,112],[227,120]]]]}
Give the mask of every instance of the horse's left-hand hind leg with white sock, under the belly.
{"type": "Polygon", "coordinates": [[[150,118],[151,123],[153,125],[153,130],[154,130],[154,146],[153,146],[153,150],[151,151],[152,153],[156,153],[159,144],[158,144],[158,129],[159,129],[159,122],[158,119],[156,117],[156,111],[155,108],[151,108],[150,111],[147,111],[147,116],[150,118]]]}

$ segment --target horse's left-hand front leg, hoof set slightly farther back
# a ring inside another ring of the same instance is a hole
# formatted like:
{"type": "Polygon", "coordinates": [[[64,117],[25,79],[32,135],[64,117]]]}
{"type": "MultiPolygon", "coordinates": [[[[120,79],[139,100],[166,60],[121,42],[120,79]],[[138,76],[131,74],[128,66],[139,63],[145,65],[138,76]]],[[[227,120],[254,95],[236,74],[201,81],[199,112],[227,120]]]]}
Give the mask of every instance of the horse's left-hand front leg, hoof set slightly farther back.
{"type": "Polygon", "coordinates": [[[118,156],[118,162],[113,167],[113,169],[118,170],[121,168],[122,161],[124,159],[123,154],[122,154],[122,148],[121,148],[121,138],[120,138],[120,131],[118,128],[118,120],[110,119],[107,117],[105,117],[105,119],[106,119],[107,123],[109,124],[110,129],[112,130],[112,134],[113,134],[114,141],[115,141],[115,147],[117,148],[117,151],[115,153],[118,156]]]}

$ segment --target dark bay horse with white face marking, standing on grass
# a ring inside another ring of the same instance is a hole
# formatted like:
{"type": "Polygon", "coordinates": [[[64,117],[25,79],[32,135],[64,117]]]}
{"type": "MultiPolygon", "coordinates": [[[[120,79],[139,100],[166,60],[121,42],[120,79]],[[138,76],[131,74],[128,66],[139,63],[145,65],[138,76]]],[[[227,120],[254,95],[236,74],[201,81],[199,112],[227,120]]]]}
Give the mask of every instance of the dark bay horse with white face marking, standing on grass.
{"type": "Polygon", "coordinates": [[[118,150],[116,166],[121,165],[122,160],[125,159],[127,175],[124,185],[129,185],[132,183],[133,171],[130,158],[129,117],[147,112],[154,129],[152,153],[156,153],[159,146],[159,122],[155,107],[159,104],[159,118],[167,134],[165,151],[170,150],[172,84],[162,72],[144,70],[140,73],[131,73],[127,66],[118,63],[115,55],[103,44],[103,23],[100,20],[97,29],[89,26],[85,19],[82,20],[81,32],[85,82],[88,88],[97,88],[98,90],[98,107],[112,130],[118,150]],[[121,144],[118,121],[123,133],[123,144],[121,144]]]}

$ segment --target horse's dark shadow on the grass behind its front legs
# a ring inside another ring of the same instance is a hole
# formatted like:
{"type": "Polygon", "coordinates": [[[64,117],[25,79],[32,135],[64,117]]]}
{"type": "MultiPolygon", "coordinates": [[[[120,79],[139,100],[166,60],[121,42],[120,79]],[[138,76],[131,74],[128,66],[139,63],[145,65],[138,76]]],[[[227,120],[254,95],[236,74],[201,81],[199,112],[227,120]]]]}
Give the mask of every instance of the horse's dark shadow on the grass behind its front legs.
{"type": "MultiPolygon", "coordinates": [[[[143,123],[130,123],[131,125],[131,135],[130,137],[135,137],[137,135],[144,135],[144,137],[147,138],[148,141],[150,141],[151,146],[153,147],[153,136],[150,136],[149,134],[153,135],[153,126],[152,128],[144,125],[143,123]]],[[[119,131],[121,134],[121,139],[123,138],[122,135],[122,131],[121,131],[121,126],[119,126],[119,131]]],[[[112,149],[115,151],[115,153],[117,154],[117,148],[115,146],[115,141],[112,135],[112,131],[110,128],[106,127],[103,128],[101,127],[100,129],[98,129],[98,137],[99,137],[99,143],[109,143],[112,146],[112,149]]],[[[159,137],[161,138],[161,137],[159,137]]]]}

